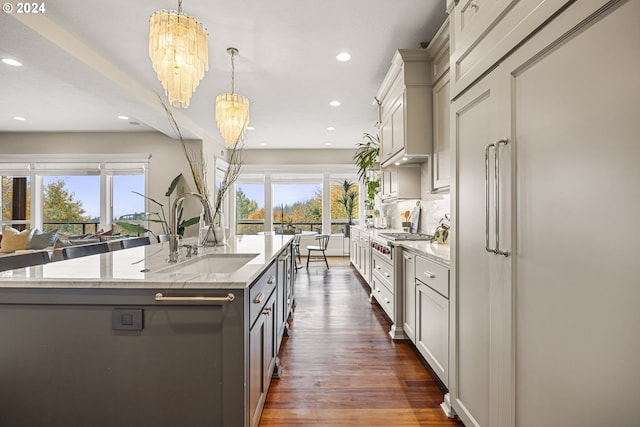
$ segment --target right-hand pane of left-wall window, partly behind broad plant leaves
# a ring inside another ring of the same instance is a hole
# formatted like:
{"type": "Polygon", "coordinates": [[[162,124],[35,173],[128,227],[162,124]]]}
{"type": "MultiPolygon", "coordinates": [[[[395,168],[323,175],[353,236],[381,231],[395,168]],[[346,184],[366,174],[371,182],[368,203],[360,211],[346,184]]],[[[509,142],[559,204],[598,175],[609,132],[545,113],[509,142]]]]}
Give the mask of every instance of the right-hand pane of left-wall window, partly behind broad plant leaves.
{"type": "MultiPolygon", "coordinates": [[[[113,232],[129,234],[116,224],[118,221],[139,224],[145,228],[144,175],[115,175],[113,177],[113,232]],[[135,194],[133,192],[140,194],[135,194]]],[[[151,215],[158,218],[156,215],[151,215]]]]}

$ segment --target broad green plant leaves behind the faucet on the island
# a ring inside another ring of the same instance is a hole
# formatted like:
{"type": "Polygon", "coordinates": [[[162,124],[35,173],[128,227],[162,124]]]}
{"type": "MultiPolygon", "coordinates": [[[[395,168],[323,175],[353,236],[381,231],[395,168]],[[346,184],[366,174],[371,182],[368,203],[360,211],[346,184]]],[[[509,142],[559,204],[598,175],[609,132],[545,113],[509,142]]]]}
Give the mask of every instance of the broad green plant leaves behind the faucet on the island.
{"type": "MultiPolygon", "coordinates": [[[[164,196],[167,198],[167,204],[169,206],[171,206],[171,196],[173,195],[173,193],[176,191],[176,188],[178,186],[178,183],[180,182],[181,179],[184,179],[184,177],[182,176],[182,174],[179,174],[178,176],[176,176],[175,178],[173,178],[171,180],[171,183],[169,184],[169,188],[167,189],[167,191],[164,193],[164,196]]],[[[137,194],[141,197],[144,197],[145,199],[147,199],[148,201],[150,201],[151,203],[154,203],[155,205],[157,205],[160,208],[159,212],[143,212],[143,213],[134,213],[134,214],[129,214],[129,215],[123,215],[120,217],[120,219],[124,219],[125,221],[117,221],[116,224],[119,225],[120,227],[122,227],[125,231],[129,232],[129,233],[134,233],[134,234],[145,234],[145,233],[151,233],[157,240],[158,242],[163,242],[163,241],[167,241],[168,238],[164,237],[164,236],[169,236],[170,234],[170,229],[169,229],[169,222],[167,221],[167,217],[164,213],[164,205],[162,203],[160,203],[159,201],[149,197],[149,196],[145,196],[142,193],[138,193],[137,191],[132,191],[132,193],[137,194]],[[160,224],[160,226],[162,227],[162,233],[160,234],[155,234],[152,230],[142,226],[141,224],[137,223],[137,222],[128,222],[128,221],[148,221],[148,222],[152,222],[152,223],[156,223],[156,224],[160,224]]],[[[184,231],[187,227],[192,226],[194,224],[197,224],[198,221],[200,220],[200,217],[193,217],[193,218],[189,218],[187,220],[183,220],[182,219],[182,213],[183,213],[183,206],[182,203],[179,204],[178,206],[178,235],[183,236],[184,235],[184,231]]]]}

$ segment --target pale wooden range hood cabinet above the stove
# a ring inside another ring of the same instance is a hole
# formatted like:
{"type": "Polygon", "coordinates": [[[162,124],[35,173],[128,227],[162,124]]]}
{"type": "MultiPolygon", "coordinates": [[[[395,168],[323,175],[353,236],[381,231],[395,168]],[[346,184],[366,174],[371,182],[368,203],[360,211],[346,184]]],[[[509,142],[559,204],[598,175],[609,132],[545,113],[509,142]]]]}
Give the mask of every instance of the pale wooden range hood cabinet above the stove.
{"type": "Polygon", "coordinates": [[[400,49],[376,99],[380,103],[382,167],[398,159],[424,161],[432,151],[432,79],[426,49],[400,49]]]}

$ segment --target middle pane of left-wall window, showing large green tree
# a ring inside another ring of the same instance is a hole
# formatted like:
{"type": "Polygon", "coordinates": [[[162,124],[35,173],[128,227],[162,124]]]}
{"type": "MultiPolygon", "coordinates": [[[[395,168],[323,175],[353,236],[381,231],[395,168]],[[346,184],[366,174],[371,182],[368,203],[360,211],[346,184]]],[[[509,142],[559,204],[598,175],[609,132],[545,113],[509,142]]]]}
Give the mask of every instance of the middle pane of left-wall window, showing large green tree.
{"type": "Polygon", "coordinates": [[[94,233],[100,224],[99,176],[43,177],[43,228],[94,233]]]}

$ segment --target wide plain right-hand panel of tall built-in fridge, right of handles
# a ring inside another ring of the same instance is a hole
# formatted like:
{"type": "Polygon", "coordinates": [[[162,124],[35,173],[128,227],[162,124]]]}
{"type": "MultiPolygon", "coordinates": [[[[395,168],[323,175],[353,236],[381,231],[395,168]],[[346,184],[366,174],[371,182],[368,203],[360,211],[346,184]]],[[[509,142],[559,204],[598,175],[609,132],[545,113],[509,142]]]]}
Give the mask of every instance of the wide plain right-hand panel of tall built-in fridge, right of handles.
{"type": "Polygon", "coordinates": [[[516,425],[640,425],[640,2],[568,37],[562,18],[502,71],[518,166],[516,425]]]}

